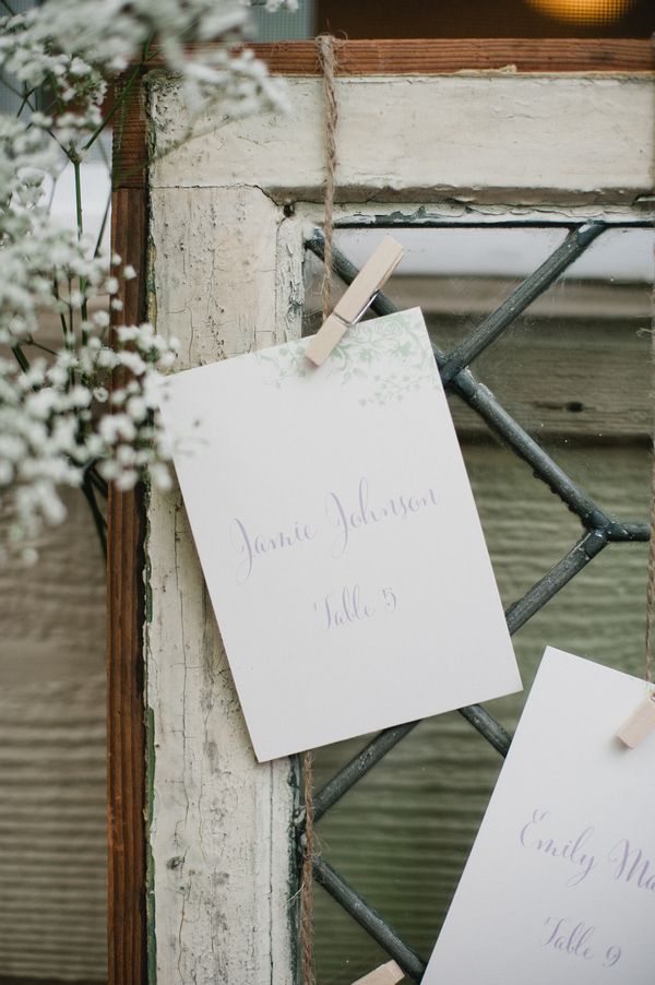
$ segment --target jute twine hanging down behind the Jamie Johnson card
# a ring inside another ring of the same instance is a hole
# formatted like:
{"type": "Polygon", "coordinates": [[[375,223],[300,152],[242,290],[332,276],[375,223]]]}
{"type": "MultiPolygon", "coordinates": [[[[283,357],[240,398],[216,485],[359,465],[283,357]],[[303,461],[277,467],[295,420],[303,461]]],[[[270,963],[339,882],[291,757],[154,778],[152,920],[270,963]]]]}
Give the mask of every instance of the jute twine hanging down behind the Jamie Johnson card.
{"type": "MultiPolygon", "coordinates": [[[[332,35],[319,35],[317,48],[325,91],[325,246],[321,289],[323,321],[325,321],[332,310],[332,228],[334,175],[336,171],[337,110],[334,92],[336,56],[332,35]]],[[[313,827],[313,757],[311,751],[305,752],[302,757],[302,790],[305,797],[305,838],[300,880],[300,963],[303,985],[315,985],[313,961],[313,862],[319,850],[313,827]]]]}

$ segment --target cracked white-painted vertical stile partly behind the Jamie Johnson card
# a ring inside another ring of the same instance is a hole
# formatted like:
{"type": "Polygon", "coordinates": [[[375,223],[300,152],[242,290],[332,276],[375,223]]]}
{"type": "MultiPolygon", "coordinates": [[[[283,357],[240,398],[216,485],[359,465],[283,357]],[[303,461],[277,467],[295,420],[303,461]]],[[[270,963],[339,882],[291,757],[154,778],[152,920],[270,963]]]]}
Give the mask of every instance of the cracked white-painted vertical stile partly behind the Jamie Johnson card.
{"type": "MultiPolygon", "coordinates": [[[[154,192],[157,325],[182,368],[276,340],[281,218],[255,189],[154,192]]],[[[154,494],[148,523],[157,983],[285,985],[293,767],[255,762],[179,496],[154,494]]]]}

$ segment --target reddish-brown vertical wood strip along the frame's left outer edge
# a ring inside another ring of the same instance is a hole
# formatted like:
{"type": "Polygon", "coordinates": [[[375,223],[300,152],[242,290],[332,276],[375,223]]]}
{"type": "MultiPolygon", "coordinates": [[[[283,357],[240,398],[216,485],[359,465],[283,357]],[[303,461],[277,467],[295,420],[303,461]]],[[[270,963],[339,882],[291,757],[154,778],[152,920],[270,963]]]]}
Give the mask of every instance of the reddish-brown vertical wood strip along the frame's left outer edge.
{"type": "MultiPolygon", "coordinates": [[[[111,244],[138,276],[121,281],[121,321],[145,316],[146,200],[119,188],[111,244]]],[[[108,936],[109,985],[143,985],[145,946],[145,728],[143,496],[111,489],[108,505],[108,936]]]]}

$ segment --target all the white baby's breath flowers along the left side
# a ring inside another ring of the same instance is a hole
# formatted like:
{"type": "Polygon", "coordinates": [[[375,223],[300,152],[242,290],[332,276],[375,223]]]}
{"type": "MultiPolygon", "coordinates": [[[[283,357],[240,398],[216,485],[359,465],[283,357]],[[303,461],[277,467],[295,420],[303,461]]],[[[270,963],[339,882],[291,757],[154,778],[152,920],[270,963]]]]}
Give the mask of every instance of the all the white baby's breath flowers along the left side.
{"type": "MultiPolygon", "coordinates": [[[[193,112],[217,98],[224,116],[281,105],[262,63],[235,51],[247,7],[45,0],[0,19],[0,69],[20,102],[17,116],[0,116],[0,561],[35,559],[44,525],[66,518],[63,487],[84,491],[104,538],[98,500],[107,483],[170,483],[156,393],[177,344],[147,323],[109,328],[121,280],[135,271],[85,236],[81,163],[154,54],[181,80],[193,112]],[[193,41],[214,44],[190,51],[193,41]],[[104,115],[117,72],[127,72],[126,82],[104,115]],[[45,195],[47,181],[71,164],[74,230],[53,221],[45,195]],[[60,327],[53,346],[40,341],[44,320],[60,327]]],[[[296,0],[266,2],[282,7],[295,9],[296,0]]]]}

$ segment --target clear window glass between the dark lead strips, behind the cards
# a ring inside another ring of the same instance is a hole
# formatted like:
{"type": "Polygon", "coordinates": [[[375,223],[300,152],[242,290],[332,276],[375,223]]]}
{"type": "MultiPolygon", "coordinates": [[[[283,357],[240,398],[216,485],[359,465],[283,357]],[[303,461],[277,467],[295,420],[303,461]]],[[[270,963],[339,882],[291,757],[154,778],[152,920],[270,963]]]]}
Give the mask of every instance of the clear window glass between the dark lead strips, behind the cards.
{"type": "MultiPolygon", "coordinates": [[[[562,226],[397,229],[388,285],[420,305],[436,344],[457,345],[568,234],[562,226]]],[[[361,265],[380,229],[341,230],[361,265]]],[[[612,517],[645,522],[650,499],[652,233],[611,228],[472,365],[512,415],[612,517]]],[[[306,329],[320,323],[322,266],[308,259],[306,329]]],[[[335,285],[335,297],[343,285],[335,285]]],[[[582,524],[456,395],[450,397],[505,605],[577,542],[582,524]]],[[[546,644],[643,674],[647,545],[606,548],[515,636],[529,687],[546,644]]],[[[525,695],[490,702],[513,728],[525,695]]],[[[317,750],[321,786],[366,739],[317,750]]],[[[428,957],[492,790],[500,757],[455,712],[422,722],[318,824],[325,858],[428,957]]],[[[318,888],[320,985],[384,960],[318,888]]]]}

